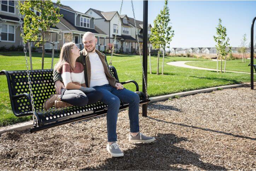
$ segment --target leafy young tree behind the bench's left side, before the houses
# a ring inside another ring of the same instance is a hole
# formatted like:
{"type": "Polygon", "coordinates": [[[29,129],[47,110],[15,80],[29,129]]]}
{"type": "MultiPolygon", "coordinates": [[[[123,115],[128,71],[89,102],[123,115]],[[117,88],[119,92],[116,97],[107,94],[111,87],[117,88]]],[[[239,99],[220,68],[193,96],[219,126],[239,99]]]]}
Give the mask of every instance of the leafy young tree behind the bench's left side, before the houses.
{"type": "MultiPolygon", "coordinates": [[[[19,11],[24,15],[24,37],[27,41],[40,41],[36,43],[36,46],[42,47],[42,69],[44,66],[45,57],[45,44],[47,41],[47,34],[50,34],[50,26],[59,22],[58,17],[62,17],[59,14],[59,8],[53,6],[52,1],[29,1],[24,3],[18,1],[19,11]],[[35,13],[36,11],[37,13],[35,13]],[[41,34],[41,37],[38,37],[41,34]]],[[[57,1],[57,5],[60,5],[60,1],[57,1]]]]}

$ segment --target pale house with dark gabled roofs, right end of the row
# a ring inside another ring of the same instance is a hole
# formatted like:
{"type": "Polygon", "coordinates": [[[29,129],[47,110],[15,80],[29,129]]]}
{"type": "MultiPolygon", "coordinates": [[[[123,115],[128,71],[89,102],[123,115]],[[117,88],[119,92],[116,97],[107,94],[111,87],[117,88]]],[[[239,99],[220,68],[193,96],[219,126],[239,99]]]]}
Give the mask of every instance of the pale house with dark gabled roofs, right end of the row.
{"type": "MultiPolygon", "coordinates": [[[[108,37],[106,43],[113,43],[115,33],[117,31],[115,49],[121,52],[135,52],[138,49],[136,40],[136,31],[134,19],[128,17],[126,14],[120,15],[117,11],[103,12],[89,8],[85,14],[95,17],[95,25],[101,28],[108,37]],[[119,25],[118,24],[119,20],[119,25]],[[117,30],[118,28],[118,30],[117,30]]],[[[136,20],[136,26],[139,31],[139,41],[142,43],[142,27],[143,22],[136,20]]],[[[148,33],[151,32],[151,25],[149,24],[148,33]]],[[[151,45],[152,47],[152,45],[151,45]]],[[[107,47],[108,48],[108,47],[107,47]]]]}

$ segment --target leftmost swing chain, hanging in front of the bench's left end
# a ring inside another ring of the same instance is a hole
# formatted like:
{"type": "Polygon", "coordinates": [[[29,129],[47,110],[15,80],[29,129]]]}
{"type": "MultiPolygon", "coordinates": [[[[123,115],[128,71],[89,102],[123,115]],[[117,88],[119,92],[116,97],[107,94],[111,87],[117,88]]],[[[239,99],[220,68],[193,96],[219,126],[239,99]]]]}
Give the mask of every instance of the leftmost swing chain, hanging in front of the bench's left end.
{"type": "MultiPolygon", "coordinates": [[[[18,4],[18,11],[19,11],[19,4],[18,4]]],[[[27,72],[27,75],[28,75],[28,84],[29,84],[31,106],[32,106],[32,112],[33,112],[33,122],[34,122],[34,126],[38,126],[38,122],[37,122],[38,120],[37,120],[37,117],[35,115],[33,92],[32,92],[31,79],[30,79],[30,73],[29,73],[29,67],[28,67],[27,49],[26,49],[26,44],[25,44],[25,41],[24,41],[24,30],[23,30],[23,26],[22,26],[21,12],[20,11],[19,11],[18,15],[19,15],[19,24],[21,25],[23,52],[25,54],[26,67],[27,67],[26,72],[27,72]]]]}

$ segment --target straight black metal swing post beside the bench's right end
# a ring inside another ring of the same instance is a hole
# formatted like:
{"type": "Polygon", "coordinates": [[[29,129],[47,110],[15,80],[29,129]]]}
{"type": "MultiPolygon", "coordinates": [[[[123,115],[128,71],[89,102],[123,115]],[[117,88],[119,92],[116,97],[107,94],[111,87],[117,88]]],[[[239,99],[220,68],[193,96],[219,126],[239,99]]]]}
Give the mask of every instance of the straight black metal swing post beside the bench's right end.
{"type": "MultiPolygon", "coordinates": [[[[143,69],[144,69],[145,82],[143,81],[143,76],[142,76],[142,92],[145,94],[146,94],[145,86],[147,86],[147,10],[148,10],[148,1],[144,0],[143,1],[143,60],[142,60],[142,65],[143,65],[143,69]]],[[[142,105],[142,116],[144,116],[144,117],[147,116],[147,104],[142,105]]]]}

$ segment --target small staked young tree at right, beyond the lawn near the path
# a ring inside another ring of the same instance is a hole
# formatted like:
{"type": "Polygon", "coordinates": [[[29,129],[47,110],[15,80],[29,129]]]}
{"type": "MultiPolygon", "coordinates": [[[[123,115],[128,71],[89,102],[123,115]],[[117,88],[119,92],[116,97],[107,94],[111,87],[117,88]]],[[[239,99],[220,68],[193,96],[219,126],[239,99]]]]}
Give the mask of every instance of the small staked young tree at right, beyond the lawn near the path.
{"type": "Polygon", "coordinates": [[[231,52],[231,47],[229,47],[229,38],[227,37],[227,29],[225,26],[222,26],[221,19],[219,18],[219,24],[216,27],[217,36],[213,36],[215,42],[217,43],[215,45],[217,49],[217,72],[218,72],[218,56],[221,57],[221,72],[222,72],[222,58],[225,57],[225,66],[224,66],[224,72],[226,72],[226,59],[227,54],[231,52]]]}

